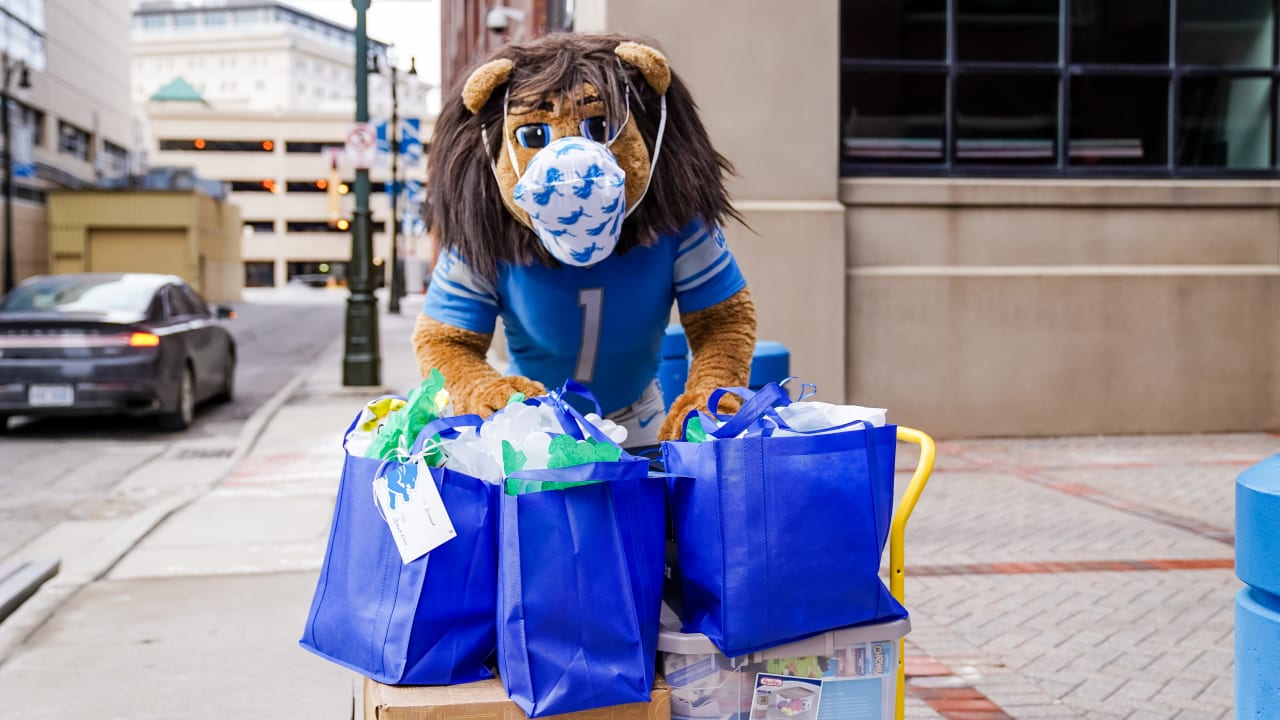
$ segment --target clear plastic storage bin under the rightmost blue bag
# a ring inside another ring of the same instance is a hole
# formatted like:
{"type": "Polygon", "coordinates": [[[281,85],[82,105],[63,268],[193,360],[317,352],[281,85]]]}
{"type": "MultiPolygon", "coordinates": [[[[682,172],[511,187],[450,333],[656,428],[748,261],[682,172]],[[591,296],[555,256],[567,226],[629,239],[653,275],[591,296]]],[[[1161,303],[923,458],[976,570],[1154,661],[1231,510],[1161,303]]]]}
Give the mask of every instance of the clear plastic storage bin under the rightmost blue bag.
{"type": "Polygon", "coordinates": [[[658,656],[672,720],[892,720],[909,619],[822,633],[741,657],[681,633],[663,606],[658,656]]]}

